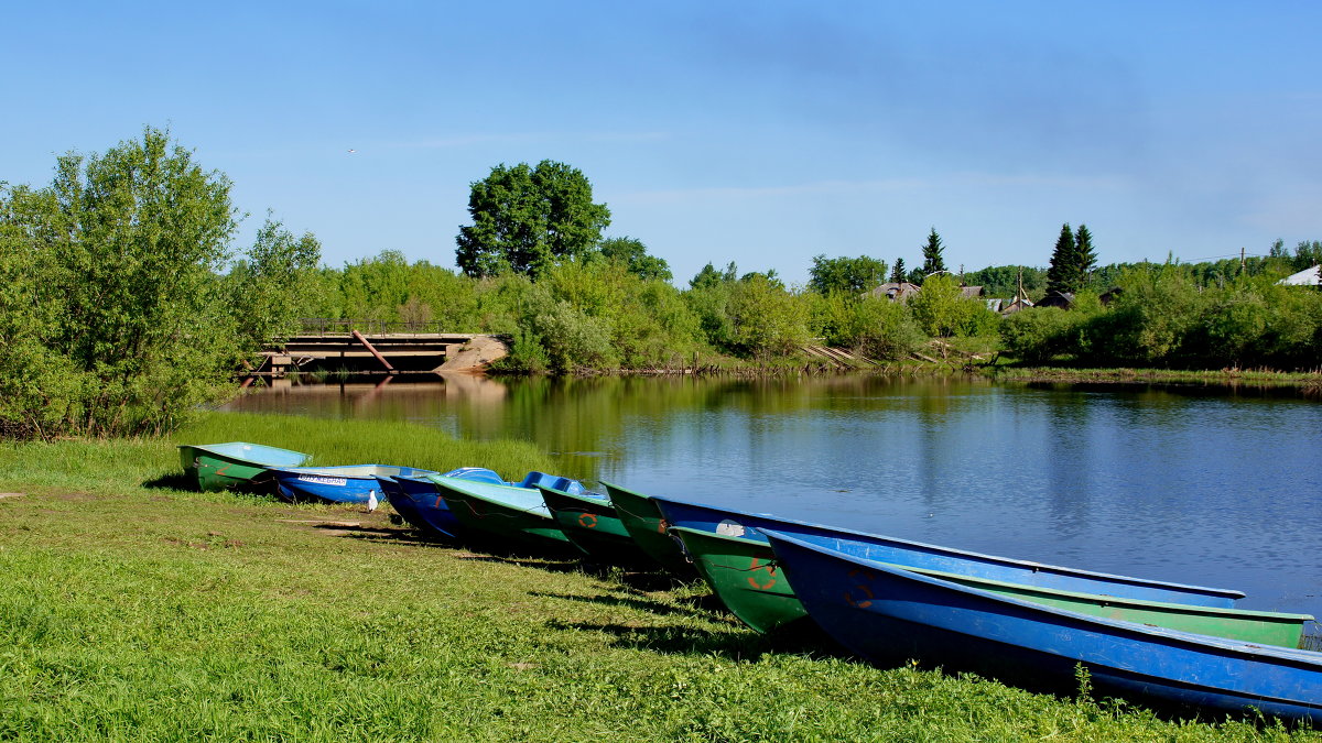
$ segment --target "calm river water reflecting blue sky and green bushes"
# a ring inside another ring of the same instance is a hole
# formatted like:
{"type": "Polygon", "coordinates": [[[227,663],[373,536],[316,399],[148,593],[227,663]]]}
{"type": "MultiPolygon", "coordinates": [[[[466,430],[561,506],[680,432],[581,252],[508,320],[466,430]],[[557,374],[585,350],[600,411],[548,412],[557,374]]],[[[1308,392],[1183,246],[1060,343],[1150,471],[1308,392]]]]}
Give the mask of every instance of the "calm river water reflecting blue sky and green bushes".
{"type": "Polygon", "coordinates": [[[1239,588],[1244,608],[1322,616],[1322,405],[1298,393],[457,377],[276,387],[227,410],[527,439],[564,473],[645,493],[1239,588]]]}

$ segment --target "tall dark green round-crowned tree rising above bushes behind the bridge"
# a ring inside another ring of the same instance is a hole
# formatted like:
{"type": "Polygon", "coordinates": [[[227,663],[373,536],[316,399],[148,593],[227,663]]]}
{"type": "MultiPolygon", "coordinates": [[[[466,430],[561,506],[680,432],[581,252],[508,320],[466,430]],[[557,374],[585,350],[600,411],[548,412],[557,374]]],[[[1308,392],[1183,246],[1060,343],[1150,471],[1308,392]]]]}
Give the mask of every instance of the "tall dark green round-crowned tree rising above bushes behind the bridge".
{"type": "Polygon", "coordinates": [[[473,223],[459,227],[455,259],[469,276],[535,278],[563,258],[588,254],[611,223],[583,172],[551,160],[496,165],[472,184],[468,214],[473,223]]]}

